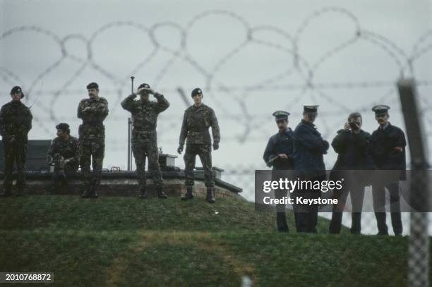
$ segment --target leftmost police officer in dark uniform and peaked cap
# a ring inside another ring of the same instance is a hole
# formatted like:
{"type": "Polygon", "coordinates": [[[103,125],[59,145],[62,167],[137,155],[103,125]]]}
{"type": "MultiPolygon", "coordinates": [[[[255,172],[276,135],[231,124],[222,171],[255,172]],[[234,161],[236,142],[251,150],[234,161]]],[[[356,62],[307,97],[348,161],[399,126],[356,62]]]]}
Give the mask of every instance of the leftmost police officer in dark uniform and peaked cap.
{"type": "MultiPolygon", "coordinates": [[[[265,164],[272,166],[272,181],[278,181],[283,177],[283,171],[294,169],[293,131],[288,128],[287,111],[275,111],[273,113],[279,132],[268,140],[263,154],[265,164]]],[[[287,190],[275,190],[275,197],[282,198],[287,195],[287,190]]],[[[284,204],[276,206],[276,226],[279,232],[288,232],[287,219],[285,217],[284,204]]]]}

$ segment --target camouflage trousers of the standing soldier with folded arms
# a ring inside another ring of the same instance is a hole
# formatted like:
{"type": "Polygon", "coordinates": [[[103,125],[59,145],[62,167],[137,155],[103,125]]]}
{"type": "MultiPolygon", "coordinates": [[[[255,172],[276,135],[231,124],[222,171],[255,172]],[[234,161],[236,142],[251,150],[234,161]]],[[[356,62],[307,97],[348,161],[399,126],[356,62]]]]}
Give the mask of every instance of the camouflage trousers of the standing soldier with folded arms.
{"type": "Polygon", "coordinates": [[[102,164],[105,156],[105,144],[102,140],[94,142],[80,142],[79,157],[83,183],[86,188],[99,185],[102,176],[102,164]],[[90,163],[93,171],[90,171],[90,163]]]}

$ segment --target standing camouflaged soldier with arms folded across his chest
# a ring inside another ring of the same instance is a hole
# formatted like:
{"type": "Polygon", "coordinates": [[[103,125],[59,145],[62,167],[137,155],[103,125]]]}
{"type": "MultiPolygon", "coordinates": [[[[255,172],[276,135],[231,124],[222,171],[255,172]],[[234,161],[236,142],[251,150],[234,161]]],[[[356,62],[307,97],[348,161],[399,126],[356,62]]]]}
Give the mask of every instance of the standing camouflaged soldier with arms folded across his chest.
{"type": "Polygon", "coordinates": [[[105,152],[104,119],[108,116],[107,99],[99,97],[97,83],[87,85],[88,99],[78,105],[78,118],[83,124],[78,129],[79,157],[84,179],[84,193],[81,197],[97,197],[97,187],[102,176],[102,164],[105,152]],[[90,161],[93,171],[90,172],[90,161]]]}

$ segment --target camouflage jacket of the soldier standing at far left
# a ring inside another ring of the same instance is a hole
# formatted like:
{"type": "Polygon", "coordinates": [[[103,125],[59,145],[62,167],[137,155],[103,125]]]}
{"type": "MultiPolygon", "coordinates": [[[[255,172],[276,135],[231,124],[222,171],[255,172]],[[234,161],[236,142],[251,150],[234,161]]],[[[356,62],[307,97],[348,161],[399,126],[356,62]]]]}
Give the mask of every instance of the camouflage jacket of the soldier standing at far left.
{"type": "Polygon", "coordinates": [[[0,110],[0,135],[4,140],[15,137],[18,142],[28,142],[32,128],[32,113],[22,102],[8,102],[0,110]]]}

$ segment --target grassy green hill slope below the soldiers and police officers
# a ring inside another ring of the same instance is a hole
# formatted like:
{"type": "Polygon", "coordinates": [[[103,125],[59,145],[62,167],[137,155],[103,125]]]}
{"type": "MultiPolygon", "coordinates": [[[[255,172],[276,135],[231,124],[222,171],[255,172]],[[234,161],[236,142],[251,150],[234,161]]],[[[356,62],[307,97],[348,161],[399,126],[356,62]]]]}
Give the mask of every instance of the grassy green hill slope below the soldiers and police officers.
{"type": "MultiPolygon", "coordinates": [[[[405,286],[407,238],[275,232],[233,198],[0,199],[0,271],[52,271],[56,286],[405,286]]],[[[32,285],[34,286],[34,285],[32,285]]]]}

